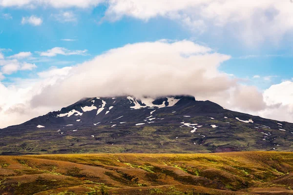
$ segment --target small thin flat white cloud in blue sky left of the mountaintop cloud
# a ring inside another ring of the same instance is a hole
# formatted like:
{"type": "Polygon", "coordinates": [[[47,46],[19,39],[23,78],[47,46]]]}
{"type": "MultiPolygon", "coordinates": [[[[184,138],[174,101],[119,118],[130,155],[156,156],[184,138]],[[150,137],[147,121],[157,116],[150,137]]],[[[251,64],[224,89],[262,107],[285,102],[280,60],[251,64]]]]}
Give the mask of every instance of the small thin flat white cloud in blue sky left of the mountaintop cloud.
{"type": "Polygon", "coordinates": [[[63,47],[54,47],[52,49],[49,49],[45,52],[39,52],[40,56],[46,56],[46,57],[54,57],[57,55],[64,55],[64,56],[70,56],[70,55],[86,55],[87,50],[68,50],[63,47]]]}

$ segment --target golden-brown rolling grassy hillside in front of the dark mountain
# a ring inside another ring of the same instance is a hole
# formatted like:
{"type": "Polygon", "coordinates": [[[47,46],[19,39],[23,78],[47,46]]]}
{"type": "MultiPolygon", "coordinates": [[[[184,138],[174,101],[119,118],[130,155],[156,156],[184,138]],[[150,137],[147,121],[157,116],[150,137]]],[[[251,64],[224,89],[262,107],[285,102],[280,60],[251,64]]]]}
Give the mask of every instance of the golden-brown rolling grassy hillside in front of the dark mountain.
{"type": "Polygon", "coordinates": [[[0,156],[3,195],[289,195],[293,153],[0,156]]]}

